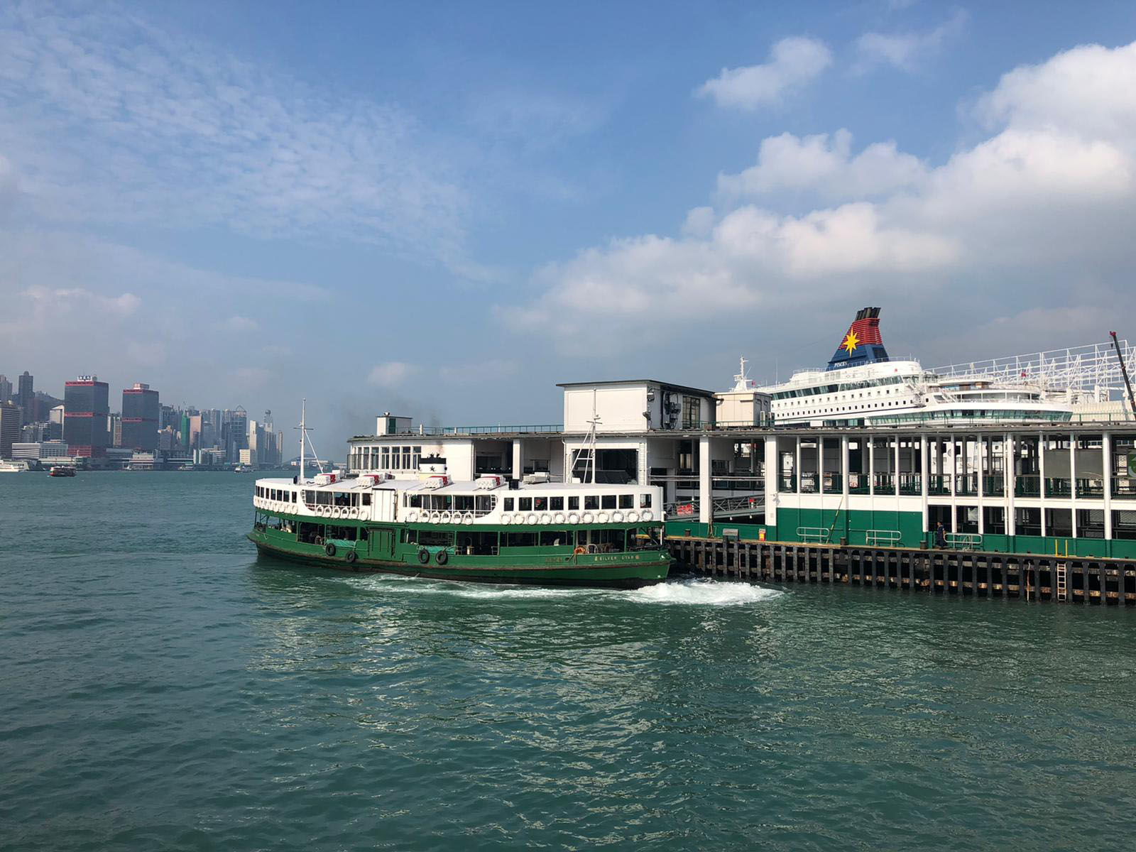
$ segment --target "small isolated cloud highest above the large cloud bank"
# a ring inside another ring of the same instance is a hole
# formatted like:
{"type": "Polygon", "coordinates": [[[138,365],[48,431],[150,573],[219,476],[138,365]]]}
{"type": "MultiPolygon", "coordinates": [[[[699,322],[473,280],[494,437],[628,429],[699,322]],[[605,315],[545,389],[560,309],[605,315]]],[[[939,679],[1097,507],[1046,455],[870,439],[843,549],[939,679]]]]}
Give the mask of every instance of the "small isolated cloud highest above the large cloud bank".
{"type": "Polygon", "coordinates": [[[698,93],[712,98],[719,107],[757,109],[782,101],[785,94],[812,82],[833,64],[833,53],[816,39],[782,39],[769,51],[765,65],[722,68],[698,93]]]}

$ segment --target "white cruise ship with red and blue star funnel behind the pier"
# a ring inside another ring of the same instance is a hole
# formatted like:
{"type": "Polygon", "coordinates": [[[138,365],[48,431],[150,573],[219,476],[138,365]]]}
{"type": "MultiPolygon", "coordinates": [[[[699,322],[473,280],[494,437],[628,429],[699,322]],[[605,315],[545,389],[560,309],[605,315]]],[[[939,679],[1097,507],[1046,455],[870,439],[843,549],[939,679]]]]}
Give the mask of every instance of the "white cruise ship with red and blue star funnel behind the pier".
{"type": "Polygon", "coordinates": [[[879,308],[857,312],[825,369],[757,390],[769,394],[776,423],[810,426],[1059,421],[1074,410],[1068,387],[1052,390],[1025,371],[1020,381],[1008,381],[893,360],[879,332],[879,308]]]}

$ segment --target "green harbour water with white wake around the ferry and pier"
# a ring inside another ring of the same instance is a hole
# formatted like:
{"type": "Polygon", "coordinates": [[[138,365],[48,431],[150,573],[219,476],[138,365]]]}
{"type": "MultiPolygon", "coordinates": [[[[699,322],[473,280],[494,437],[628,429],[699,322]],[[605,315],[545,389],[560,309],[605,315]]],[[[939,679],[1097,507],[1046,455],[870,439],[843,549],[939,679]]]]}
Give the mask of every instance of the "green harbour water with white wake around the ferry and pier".
{"type": "Polygon", "coordinates": [[[293,568],[251,487],[0,479],[6,849],[1130,849],[1136,612],[293,568]]]}

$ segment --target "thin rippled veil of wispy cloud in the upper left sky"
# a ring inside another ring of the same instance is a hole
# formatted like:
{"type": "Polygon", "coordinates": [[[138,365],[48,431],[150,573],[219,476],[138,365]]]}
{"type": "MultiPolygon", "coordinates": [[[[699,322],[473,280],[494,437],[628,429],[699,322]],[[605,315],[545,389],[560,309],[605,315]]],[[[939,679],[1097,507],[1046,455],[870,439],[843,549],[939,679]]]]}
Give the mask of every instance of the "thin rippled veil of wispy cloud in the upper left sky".
{"type": "Polygon", "coordinates": [[[444,143],[398,105],[314,90],[134,14],[33,3],[0,9],[0,151],[51,220],[460,259],[465,192],[444,143]]]}

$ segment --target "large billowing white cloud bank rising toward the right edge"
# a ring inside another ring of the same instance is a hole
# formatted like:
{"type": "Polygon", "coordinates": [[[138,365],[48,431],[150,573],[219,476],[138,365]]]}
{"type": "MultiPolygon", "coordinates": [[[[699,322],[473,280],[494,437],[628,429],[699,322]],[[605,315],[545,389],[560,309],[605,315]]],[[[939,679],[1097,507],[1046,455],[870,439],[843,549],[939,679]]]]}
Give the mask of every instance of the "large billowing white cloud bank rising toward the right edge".
{"type": "Polygon", "coordinates": [[[550,264],[534,276],[540,295],[502,315],[590,356],[633,346],[642,335],[632,329],[691,331],[880,294],[919,303],[938,289],[983,316],[1006,300],[1060,311],[1076,278],[1136,321],[1120,298],[1136,216],[1136,87],[1126,75],[1136,80],[1136,44],[1012,70],[978,101],[992,134],[941,165],[893,142],[853,153],[846,131],[767,139],[753,167],[720,178],[715,208],[687,214],[680,236],[612,240],[550,264]],[[820,203],[776,209],[787,191],[820,203]]]}

